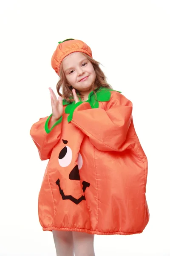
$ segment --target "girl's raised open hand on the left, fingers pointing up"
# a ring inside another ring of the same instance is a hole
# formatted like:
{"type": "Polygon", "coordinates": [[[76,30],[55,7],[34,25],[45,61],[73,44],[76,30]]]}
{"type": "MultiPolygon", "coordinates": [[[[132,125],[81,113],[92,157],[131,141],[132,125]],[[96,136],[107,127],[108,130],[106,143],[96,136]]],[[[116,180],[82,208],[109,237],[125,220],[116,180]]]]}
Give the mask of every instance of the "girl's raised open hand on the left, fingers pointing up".
{"type": "Polygon", "coordinates": [[[62,97],[59,96],[58,99],[54,93],[54,91],[49,87],[51,94],[51,107],[52,107],[52,119],[57,120],[63,114],[63,105],[62,105],[62,97]]]}

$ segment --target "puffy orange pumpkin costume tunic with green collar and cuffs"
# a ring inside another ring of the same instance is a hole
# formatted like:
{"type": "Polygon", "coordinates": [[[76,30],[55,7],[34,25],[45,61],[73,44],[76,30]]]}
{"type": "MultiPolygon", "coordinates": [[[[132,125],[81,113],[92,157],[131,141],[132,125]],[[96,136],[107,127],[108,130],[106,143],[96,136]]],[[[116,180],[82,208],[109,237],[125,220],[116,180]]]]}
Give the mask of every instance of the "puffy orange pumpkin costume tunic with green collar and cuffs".
{"type": "MultiPolygon", "coordinates": [[[[58,70],[57,70],[58,72],[58,70]]],[[[40,159],[48,164],[38,199],[43,230],[98,235],[142,233],[149,221],[147,157],[136,135],[132,102],[100,87],[85,102],[31,127],[40,159]]]]}

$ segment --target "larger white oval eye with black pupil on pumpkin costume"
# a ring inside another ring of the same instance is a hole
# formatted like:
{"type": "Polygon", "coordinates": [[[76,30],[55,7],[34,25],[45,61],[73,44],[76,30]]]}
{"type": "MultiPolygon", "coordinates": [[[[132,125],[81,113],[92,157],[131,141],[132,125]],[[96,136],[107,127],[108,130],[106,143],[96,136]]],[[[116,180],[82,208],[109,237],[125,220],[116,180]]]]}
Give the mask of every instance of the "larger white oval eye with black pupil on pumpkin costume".
{"type": "Polygon", "coordinates": [[[72,150],[70,147],[65,146],[62,148],[62,150],[59,152],[59,157],[58,157],[59,165],[61,167],[66,167],[69,166],[72,160],[72,150]]]}

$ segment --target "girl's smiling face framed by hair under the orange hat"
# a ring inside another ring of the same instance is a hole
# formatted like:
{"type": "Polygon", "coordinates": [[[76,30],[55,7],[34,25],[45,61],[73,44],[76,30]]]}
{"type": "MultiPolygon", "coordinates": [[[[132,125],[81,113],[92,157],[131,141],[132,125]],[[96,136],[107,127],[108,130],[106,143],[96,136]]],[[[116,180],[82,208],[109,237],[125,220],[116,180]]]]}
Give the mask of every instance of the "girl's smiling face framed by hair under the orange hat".
{"type": "Polygon", "coordinates": [[[96,73],[91,62],[82,52],[73,52],[62,61],[62,68],[66,79],[73,88],[79,92],[92,89],[96,79],[96,73]],[[86,79],[84,79],[86,77],[86,79]],[[81,81],[81,79],[83,79],[81,81]]]}

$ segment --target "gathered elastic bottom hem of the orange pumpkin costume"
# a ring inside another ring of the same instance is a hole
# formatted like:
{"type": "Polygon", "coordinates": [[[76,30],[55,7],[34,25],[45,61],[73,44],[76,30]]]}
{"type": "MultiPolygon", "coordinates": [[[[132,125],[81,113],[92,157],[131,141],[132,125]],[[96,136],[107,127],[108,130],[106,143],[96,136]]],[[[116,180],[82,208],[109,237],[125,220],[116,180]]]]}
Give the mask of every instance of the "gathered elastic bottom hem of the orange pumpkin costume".
{"type": "Polygon", "coordinates": [[[77,231],[77,232],[85,232],[88,234],[96,234],[96,235],[134,235],[134,234],[140,234],[143,232],[142,231],[136,231],[136,232],[121,232],[121,231],[116,231],[116,232],[101,232],[97,230],[88,230],[88,229],[82,229],[82,228],[69,228],[69,227],[43,227],[43,231],[51,231],[52,230],[62,230],[62,231],[77,231]]]}

